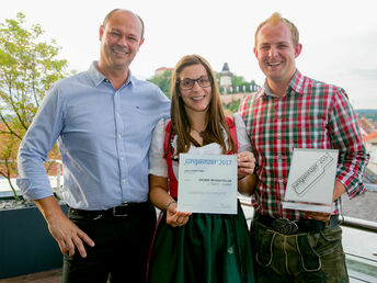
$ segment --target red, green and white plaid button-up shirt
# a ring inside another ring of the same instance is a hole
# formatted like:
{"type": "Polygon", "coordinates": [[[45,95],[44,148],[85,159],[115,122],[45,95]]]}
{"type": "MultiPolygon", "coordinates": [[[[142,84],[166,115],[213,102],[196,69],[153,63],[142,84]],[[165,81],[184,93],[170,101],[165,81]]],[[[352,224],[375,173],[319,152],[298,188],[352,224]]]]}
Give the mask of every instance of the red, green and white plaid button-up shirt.
{"type": "MultiPolygon", "coordinates": [[[[364,193],[368,154],[346,92],[297,70],[284,97],[266,93],[262,88],[239,107],[260,168],[255,210],[272,217],[304,218],[304,212],[282,207],[294,148],[339,149],[336,180],[350,199],[364,193]]],[[[335,214],[342,212],[341,202],[335,201],[335,214]]]]}

